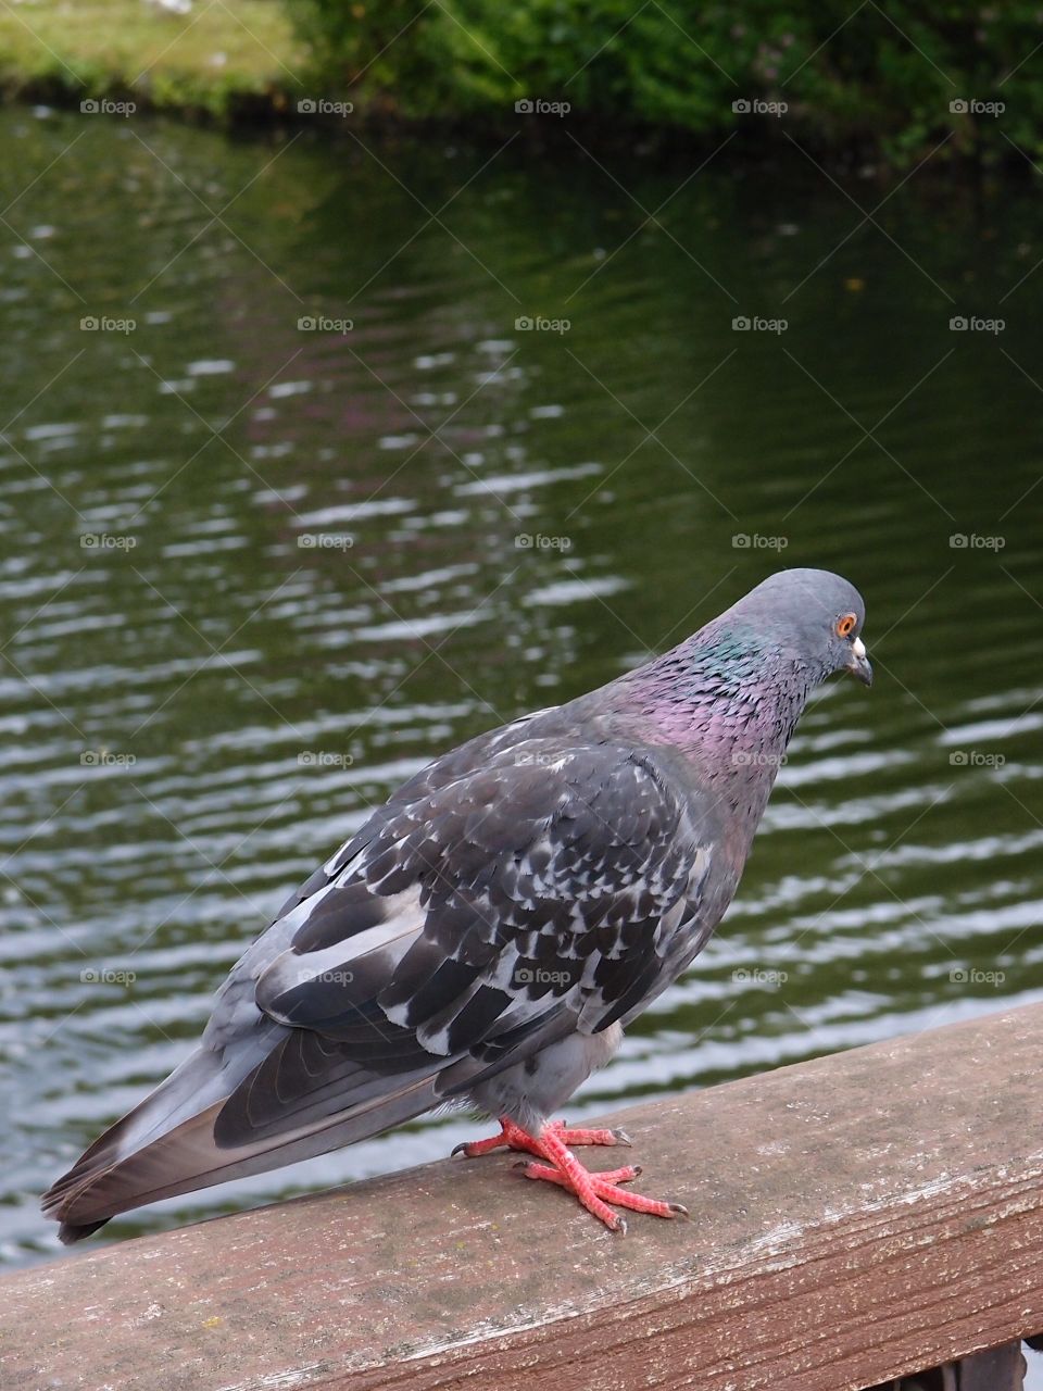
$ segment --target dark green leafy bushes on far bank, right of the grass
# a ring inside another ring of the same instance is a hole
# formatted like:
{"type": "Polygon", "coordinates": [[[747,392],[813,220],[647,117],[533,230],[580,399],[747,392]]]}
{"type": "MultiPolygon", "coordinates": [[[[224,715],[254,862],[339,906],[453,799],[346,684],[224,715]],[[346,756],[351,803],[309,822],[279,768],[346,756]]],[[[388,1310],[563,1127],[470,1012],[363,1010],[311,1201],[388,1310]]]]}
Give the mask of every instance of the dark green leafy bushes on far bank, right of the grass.
{"type": "Polygon", "coordinates": [[[523,97],[706,138],[780,124],[909,163],[1043,150],[1043,13],[897,0],[286,0],[323,81],[412,117],[508,124],[523,97]],[[1011,75],[1014,74],[1014,75],[1011,75]],[[736,100],[786,103],[780,118],[736,100]],[[1005,111],[950,110],[954,100],[1005,111]],[[946,139],[947,138],[947,139],[946,139]]]}

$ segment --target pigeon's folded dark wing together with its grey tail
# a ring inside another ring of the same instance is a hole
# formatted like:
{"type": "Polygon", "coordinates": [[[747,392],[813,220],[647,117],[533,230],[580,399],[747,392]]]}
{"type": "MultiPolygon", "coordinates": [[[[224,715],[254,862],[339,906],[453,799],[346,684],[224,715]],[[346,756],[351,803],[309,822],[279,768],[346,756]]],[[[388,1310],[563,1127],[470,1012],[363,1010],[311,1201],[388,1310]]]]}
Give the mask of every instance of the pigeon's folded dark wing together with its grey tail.
{"type": "Polygon", "coordinates": [[[402,1124],[676,975],[712,828],[651,758],[527,736],[430,765],[293,896],[200,1049],[49,1191],[63,1239],[402,1124]]]}

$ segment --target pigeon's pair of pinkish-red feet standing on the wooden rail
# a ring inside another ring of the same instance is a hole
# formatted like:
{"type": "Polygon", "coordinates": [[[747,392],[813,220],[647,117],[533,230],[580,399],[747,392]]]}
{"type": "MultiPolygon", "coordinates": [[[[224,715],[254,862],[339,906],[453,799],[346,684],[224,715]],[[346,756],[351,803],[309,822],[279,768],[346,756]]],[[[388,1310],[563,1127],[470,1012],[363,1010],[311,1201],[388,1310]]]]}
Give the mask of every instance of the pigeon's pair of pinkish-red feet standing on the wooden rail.
{"type": "Polygon", "coordinates": [[[688,1210],[680,1203],[661,1202],[658,1198],[642,1198],[640,1193],[627,1192],[620,1184],[633,1182],[641,1170],[636,1164],[626,1164],[623,1168],[612,1168],[606,1173],[591,1173],[569,1149],[569,1145],[629,1145],[630,1139],[623,1131],[611,1129],[579,1129],[570,1131],[565,1121],[549,1121],[540,1135],[530,1135],[506,1116],[501,1120],[501,1132],[490,1139],[473,1141],[470,1145],[458,1145],[453,1153],[462,1152],[469,1159],[477,1155],[487,1155],[494,1149],[517,1149],[537,1159],[545,1160],[542,1164],[524,1163],[517,1167],[526,1178],[542,1180],[548,1184],[558,1184],[567,1192],[574,1193],[588,1213],[604,1221],[609,1231],[626,1232],[627,1224],[612,1207],[629,1207],[630,1212],[648,1213],[652,1217],[687,1217],[688,1210]]]}

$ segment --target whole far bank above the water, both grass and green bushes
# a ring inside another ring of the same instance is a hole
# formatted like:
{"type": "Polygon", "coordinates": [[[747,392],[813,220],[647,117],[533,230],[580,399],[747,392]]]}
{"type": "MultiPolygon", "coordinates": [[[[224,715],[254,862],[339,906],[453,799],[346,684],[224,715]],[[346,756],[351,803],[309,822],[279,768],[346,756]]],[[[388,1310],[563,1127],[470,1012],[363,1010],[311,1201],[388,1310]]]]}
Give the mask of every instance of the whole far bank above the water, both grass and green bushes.
{"type": "Polygon", "coordinates": [[[795,140],[880,170],[1043,160],[1037,0],[165,3],[189,10],[0,0],[0,95],[332,127],[350,103],[370,128],[731,154],[795,140]]]}

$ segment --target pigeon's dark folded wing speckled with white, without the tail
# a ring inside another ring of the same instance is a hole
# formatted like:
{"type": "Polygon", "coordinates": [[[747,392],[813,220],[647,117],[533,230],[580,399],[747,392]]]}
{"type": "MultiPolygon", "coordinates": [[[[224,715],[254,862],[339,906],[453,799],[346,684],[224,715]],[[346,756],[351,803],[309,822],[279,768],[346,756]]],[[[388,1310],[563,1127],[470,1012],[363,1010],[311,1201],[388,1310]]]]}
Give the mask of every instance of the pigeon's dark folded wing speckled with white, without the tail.
{"type": "Polygon", "coordinates": [[[381,808],[292,910],[257,1006],[387,1077],[515,1060],[566,1014],[592,1034],[637,1013],[709,867],[651,759],[524,740],[432,783],[381,808]]]}

